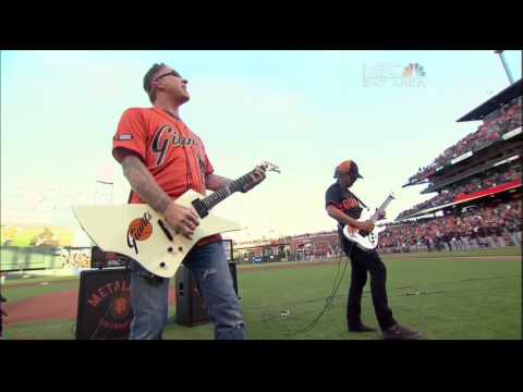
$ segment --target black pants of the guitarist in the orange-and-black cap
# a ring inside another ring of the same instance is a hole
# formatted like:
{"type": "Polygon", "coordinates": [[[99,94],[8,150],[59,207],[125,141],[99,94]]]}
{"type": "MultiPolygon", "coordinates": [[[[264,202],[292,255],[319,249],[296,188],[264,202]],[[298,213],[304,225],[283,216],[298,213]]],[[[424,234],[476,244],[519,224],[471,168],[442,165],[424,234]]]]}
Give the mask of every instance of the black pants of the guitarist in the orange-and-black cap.
{"type": "Polygon", "coordinates": [[[367,282],[367,271],[370,274],[370,292],[373,295],[374,311],[379,328],[384,331],[393,324],[392,310],[387,303],[387,268],[376,250],[365,252],[357,245],[343,238],[343,250],[351,259],[352,273],[346,303],[346,321],[349,327],[357,327],[362,322],[362,294],[367,282]]]}

